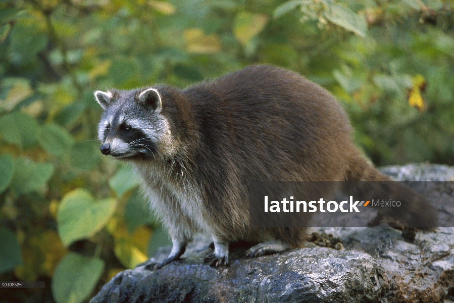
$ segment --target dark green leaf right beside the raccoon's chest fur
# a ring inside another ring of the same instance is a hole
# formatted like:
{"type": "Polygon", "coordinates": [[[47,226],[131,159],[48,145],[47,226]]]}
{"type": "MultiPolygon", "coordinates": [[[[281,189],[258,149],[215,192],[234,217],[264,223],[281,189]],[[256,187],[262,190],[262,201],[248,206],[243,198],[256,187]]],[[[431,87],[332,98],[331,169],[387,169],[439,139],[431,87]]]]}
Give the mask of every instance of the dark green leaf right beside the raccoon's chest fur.
{"type": "Polygon", "coordinates": [[[125,222],[128,232],[132,234],[142,224],[156,224],[157,220],[145,203],[145,198],[139,191],[131,195],[125,206],[125,222]]]}

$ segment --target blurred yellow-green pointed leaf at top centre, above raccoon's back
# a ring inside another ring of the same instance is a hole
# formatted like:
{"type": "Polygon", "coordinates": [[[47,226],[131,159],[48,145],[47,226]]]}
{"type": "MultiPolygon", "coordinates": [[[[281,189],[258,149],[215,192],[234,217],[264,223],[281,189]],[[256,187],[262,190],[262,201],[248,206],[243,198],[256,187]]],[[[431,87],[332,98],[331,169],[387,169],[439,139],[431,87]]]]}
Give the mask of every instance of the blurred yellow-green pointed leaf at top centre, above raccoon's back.
{"type": "Polygon", "coordinates": [[[258,35],[268,22],[264,14],[240,12],[235,17],[233,33],[241,44],[246,45],[250,39],[258,35]]]}

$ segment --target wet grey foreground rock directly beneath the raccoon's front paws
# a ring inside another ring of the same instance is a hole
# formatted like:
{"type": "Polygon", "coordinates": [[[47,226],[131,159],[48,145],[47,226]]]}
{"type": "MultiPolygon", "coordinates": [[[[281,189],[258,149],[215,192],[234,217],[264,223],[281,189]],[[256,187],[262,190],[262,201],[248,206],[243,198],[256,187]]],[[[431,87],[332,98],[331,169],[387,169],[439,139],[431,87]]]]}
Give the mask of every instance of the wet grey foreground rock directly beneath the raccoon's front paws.
{"type": "Polygon", "coordinates": [[[261,258],[238,256],[222,269],[201,259],[156,272],[138,266],[114,277],[91,302],[364,301],[379,295],[383,272],[371,256],[312,246],[261,258]]]}

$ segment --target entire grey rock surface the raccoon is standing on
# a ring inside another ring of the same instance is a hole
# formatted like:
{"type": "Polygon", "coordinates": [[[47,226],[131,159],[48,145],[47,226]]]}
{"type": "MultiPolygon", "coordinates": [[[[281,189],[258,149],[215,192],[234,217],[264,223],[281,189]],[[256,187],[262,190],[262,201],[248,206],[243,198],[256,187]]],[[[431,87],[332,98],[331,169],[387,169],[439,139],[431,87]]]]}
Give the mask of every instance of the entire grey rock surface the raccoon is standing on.
{"type": "MultiPolygon", "coordinates": [[[[385,167],[398,180],[454,181],[454,168],[440,165],[385,167]]],[[[451,184],[451,183],[446,183],[451,184]]],[[[448,186],[449,187],[449,186],[448,186]]],[[[454,217],[452,188],[437,188],[440,206],[454,217]]],[[[133,270],[117,274],[90,302],[451,302],[454,301],[454,228],[418,231],[414,240],[388,226],[313,228],[318,245],[246,258],[230,248],[230,266],[203,263],[210,240],[202,236],[183,258],[158,271],[147,268],[170,247],[133,270]],[[332,236],[326,236],[332,234],[332,236]],[[340,241],[328,245],[329,240],[340,241]]]]}

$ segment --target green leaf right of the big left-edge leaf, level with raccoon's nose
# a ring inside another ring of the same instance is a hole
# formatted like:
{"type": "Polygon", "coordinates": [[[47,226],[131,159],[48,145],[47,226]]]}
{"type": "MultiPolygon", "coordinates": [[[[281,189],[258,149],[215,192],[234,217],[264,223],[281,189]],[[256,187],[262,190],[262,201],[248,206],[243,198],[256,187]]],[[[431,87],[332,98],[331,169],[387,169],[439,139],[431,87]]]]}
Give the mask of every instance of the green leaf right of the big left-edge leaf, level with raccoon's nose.
{"type": "Polygon", "coordinates": [[[41,126],[38,134],[38,142],[47,153],[55,157],[61,157],[67,154],[74,144],[73,138],[66,129],[56,124],[41,126]]]}

